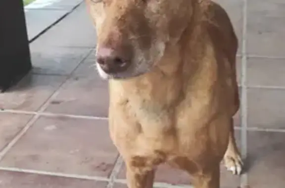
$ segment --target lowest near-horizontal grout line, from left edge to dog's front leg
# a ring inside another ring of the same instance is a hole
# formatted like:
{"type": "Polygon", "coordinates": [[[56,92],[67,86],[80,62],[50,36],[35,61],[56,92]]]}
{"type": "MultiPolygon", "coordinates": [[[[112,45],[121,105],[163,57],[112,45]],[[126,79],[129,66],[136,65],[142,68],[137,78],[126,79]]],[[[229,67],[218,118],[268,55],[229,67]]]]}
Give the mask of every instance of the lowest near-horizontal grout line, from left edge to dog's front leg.
{"type": "Polygon", "coordinates": [[[58,172],[47,172],[47,171],[21,169],[21,168],[14,168],[14,167],[0,167],[0,170],[7,171],[7,172],[24,172],[24,173],[36,174],[36,175],[47,175],[47,176],[54,176],[54,177],[61,177],[61,178],[76,178],[76,179],[82,179],[82,180],[95,180],[95,181],[100,181],[100,182],[109,181],[108,178],[98,177],[98,176],[65,174],[65,173],[58,173],[58,172]]]}

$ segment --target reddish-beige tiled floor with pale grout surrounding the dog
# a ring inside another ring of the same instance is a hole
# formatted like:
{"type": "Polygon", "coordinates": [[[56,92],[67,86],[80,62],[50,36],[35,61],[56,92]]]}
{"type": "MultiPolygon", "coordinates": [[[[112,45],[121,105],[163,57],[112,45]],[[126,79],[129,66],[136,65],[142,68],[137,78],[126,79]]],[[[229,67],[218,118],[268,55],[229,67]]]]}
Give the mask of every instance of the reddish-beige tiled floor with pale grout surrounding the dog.
{"type": "MultiPolygon", "coordinates": [[[[235,125],[247,168],[238,177],[222,167],[222,188],[285,188],[285,1],[218,1],[239,38],[235,125]]],[[[35,69],[0,94],[0,188],[126,188],[95,43],[84,4],[31,43],[35,69]]],[[[182,171],[157,172],[155,187],[188,184],[182,171]]]]}

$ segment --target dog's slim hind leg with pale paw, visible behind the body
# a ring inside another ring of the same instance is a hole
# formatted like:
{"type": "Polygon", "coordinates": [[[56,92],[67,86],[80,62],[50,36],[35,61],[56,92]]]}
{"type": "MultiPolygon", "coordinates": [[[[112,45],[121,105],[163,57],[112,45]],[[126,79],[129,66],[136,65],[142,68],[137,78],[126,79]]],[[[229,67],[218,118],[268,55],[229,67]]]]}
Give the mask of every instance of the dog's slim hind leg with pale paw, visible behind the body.
{"type": "Polygon", "coordinates": [[[234,120],[232,118],[229,145],[224,156],[224,163],[229,171],[235,175],[240,175],[243,164],[237,147],[234,131],[234,120]]]}

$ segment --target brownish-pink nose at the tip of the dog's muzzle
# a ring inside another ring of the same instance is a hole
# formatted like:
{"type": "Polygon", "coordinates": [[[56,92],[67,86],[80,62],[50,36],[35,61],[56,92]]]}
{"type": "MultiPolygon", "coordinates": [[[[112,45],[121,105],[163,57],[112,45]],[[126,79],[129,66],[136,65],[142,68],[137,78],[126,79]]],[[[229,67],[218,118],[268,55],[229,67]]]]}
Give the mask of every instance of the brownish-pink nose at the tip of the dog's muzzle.
{"type": "Polygon", "coordinates": [[[126,57],[123,57],[122,54],[107,47],[98,48],[97,63],[107,74],[124,72],[131,64],[130,60],[126,57]]]}

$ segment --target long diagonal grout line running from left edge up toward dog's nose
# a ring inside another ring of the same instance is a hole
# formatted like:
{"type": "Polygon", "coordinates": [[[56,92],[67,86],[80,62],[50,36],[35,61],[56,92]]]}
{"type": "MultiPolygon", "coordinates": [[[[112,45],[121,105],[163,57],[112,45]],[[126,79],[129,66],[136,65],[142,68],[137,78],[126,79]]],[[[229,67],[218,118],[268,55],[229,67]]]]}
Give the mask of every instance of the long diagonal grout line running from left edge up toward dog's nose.
{"type": "Polygon", "coordinates": [[[23,135],[25,135],[25,133],[29,130],[29,128],[38,120],[38,118],[41,116],[40,113],[43,113],[50,101],[59,93],[59,89],[61,88],[61,86],[63,84],[65,84],[67,82],[67,80],[71,77],[72,73],[79,67],[79,65],[88,57],[88,55],[91,53],[92,50],[90,50],[89,53],[87,53],[87,55],[82,58],[82,60],[80,61],[80,63],[74,68],[74,70],[71,72],[71,74],[69,76],[67,76],[65,78],[64,81],[62,81],[61,84],[59,84],[59,86],[57,87],[57,89],[47,98],[46,102],[43,104],[43,106],[38,110],[38,114],[36,114],[35,116],[33,116],[25,125],[25,127],[2,149],[0,150],[0,161],[3,159],[3,157],[5,156],[5,154],[21,139],[21,137],[23,135]]]}

